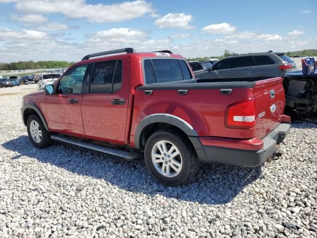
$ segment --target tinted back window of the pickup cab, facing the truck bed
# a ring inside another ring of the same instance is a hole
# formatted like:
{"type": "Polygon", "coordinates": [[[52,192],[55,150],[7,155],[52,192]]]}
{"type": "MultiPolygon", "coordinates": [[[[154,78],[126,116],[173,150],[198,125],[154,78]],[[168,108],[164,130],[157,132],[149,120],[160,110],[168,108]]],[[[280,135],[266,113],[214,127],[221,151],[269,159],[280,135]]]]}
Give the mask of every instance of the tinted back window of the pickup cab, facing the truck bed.
{"type": "Polygon", "coordinates": [[[192,78],[184,60],[144,60],[144,72],[147,84],[192,78]]]}

